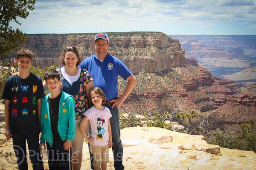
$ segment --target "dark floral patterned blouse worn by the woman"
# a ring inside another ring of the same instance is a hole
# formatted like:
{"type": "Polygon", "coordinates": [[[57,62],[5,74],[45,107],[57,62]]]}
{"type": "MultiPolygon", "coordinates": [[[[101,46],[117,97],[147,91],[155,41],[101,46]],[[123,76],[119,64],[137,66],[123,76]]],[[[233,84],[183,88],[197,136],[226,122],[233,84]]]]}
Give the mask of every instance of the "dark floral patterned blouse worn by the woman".
{"type": "Polygon", "coordinates": [[[84,117],[84,112],[89,108],[88,97],[86,95],[86,85],[93,81],[93,77],[86,69],[81,69],[80,77],[72,85],[63,77],[61,68],[58,69],[61,77],[61,90],[75,98],[76,119],[84,117]]]}

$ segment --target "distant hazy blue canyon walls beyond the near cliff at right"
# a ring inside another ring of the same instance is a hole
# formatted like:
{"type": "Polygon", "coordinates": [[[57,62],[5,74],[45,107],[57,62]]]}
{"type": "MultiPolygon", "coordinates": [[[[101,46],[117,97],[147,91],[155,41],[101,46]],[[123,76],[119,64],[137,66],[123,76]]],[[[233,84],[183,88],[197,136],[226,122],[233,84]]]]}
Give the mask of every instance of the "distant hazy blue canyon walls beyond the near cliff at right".
{"type": "MultiPolygon", "coordinates": [[[[169,35],[180,41],[187,58],[198,60],[212,75],[240,72],[256,61],[255,35],[169,35]]],[[[250,80],[253,77],[250,77],[250,80]]],[[[233,79],[235,80],[235,79],[233,79]]],[[[255,82],[255,80],[254,80],[255,82]]]]}

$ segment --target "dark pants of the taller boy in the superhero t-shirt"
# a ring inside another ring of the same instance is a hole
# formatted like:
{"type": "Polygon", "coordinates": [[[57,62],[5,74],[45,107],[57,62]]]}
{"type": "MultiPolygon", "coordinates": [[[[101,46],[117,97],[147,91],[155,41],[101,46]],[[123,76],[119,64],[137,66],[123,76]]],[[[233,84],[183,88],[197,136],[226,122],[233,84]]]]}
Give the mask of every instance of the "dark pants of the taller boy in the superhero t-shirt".
{"type": "Polygon", "coordinates": [[[12,143],[19,170],[28,170],[26,158],[26,141],[29,147],[29,159],[32,162],[33,170],[44,170],[44,164],[39,152],[39,134],[13,134],[12,143]]]}

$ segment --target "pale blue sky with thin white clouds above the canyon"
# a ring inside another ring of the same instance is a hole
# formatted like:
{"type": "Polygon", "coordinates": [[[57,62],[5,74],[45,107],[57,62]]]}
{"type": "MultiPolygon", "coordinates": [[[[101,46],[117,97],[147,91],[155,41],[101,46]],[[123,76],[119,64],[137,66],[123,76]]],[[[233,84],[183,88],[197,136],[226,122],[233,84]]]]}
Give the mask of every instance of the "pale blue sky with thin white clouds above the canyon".
{"type": "Polygon", "coordinates": [[[159,31],[256,35],[256,0],[36,0],[26,34],[159,31]]]}

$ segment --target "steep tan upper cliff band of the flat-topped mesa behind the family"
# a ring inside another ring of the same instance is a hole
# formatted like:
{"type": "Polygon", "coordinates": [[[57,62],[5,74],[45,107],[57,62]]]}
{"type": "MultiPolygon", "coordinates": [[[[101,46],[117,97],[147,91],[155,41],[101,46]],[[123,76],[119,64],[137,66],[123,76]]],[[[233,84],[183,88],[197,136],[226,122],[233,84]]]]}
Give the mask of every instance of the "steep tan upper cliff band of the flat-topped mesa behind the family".
{"type": "MultiPolygon", "coordinates": [[[[93,55],[95,34],[28,34],[23,47],[35,53],[35,66],[61,66],[64,48],[75,46],[79,55],[93,55]]],[[[121,59],[133,73],[163,71],[186,64],[178,40],[160,32],[108,33],[109,52],[121,59]]]]}

